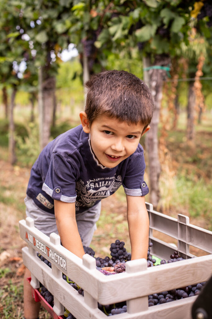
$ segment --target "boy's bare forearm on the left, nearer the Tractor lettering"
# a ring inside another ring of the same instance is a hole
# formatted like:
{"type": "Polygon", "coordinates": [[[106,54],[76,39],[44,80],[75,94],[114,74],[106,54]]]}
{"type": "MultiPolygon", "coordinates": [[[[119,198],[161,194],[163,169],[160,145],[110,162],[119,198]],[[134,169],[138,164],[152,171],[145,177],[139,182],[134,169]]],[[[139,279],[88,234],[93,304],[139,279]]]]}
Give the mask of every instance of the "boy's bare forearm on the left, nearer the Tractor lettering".
{"type": "Polygon", "coordinates": [[[54,210],[58,233],[63,246],[82,258],[85,252],[77,228],[75,203],[54,200],[54,210]]]}

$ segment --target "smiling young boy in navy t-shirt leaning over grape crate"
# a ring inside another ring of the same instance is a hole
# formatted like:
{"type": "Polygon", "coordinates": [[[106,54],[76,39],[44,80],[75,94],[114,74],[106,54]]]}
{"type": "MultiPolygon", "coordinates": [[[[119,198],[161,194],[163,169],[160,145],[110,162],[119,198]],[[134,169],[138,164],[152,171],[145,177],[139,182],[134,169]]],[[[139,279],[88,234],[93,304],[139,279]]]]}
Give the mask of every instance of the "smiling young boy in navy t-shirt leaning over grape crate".
{"type": "MultiPolygon", "coordinates": [[[[44,234],[58,233],[63,246],[82,258],[83,244],[89,246],[96,229],[101,199],[123,185],[132,259],[147,258],[148,187],[139,140],[150,129],[151,93],[139,78],[117,70],[93,76],[86,87],[81,125],[51,141],[31,169],[26,215],[44,234]]],[[[31,297],[26,277],[29,270],[24,278],[24,315],[35,319],[39,303],[31,297]]]]}

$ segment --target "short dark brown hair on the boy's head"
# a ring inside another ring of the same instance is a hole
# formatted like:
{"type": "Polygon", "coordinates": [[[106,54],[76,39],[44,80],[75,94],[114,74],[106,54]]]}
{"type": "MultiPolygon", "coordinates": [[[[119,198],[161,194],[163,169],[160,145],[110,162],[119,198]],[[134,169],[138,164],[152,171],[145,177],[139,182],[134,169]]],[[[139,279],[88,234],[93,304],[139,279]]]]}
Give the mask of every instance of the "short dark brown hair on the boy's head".
{"type": "Polygon", "coordinates": [[[99,116],[145,127],[151,122],[154,102],[147,85],[127,71],[110,70],[93,75],[86,83],[85,113],[89,124],[99,116]]]}

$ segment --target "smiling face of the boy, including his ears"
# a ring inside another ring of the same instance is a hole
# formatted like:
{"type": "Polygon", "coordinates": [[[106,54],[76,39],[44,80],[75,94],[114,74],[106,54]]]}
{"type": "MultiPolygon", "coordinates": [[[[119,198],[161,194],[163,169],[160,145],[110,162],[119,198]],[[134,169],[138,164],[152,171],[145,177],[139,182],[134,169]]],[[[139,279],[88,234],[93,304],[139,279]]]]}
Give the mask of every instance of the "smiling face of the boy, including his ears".
{"type": "Polygon", "coordinates": [[[80,112],[80,119],[85,133],[90,133],[91,147],[99,164],[109,168],[117,166],[132,155],[137,149],[141,134],[150,128],[148,126],[142,133],[143,124],[129,125],[106,115],[99,116],[89,127],[85,112],[80,112]]]}

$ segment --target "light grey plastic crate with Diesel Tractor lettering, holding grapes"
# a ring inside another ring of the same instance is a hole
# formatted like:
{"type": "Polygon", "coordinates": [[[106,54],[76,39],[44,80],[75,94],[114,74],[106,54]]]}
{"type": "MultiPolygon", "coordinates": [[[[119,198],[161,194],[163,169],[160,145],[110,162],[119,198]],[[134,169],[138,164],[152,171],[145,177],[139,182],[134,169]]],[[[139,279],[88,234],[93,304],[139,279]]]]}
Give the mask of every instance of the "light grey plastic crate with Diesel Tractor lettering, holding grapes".
{"type": "Polygon", "coordinates": [[[145,259],[132,260],[126,263],[126,272],[105,276],[96,269],[95,258],[88,254],[83,259],[75,256],[60,245],[57,234],[48,237],[35,228],[31,218],[19,221],[21,238],[28,244],[22,254],[24,265],[31,271],[31,286],[39,288],[41,282],[53,294],[55,314],[63,315],[65,307],[77,319],[103,319],[107,316],[98,309],[98,302],[107,305],[127,300],[127,313],[116,315],[117,319],[168,319],[170,316],[191,319],[196,296],[148,308],[148,295],[208,280],[212,266],[212,232],[191,225],[184,215],[179,214],[175,219],[154,211],[152,204],[146,203],[146,206],[149,238],[154,244],[151,254],[167,259],[175,250],[153,236],[153,230],[158,230],[177,239],[176,250],[187,260],[149,268],[145,259]],[[209,255],[191,258],[194,255],[189,252],[190,245],[209,255]],[[52,268],[37,257],[37,251],[51,262],[52,268]],[[65,282],[62,273],[84,289],[84,297],[65,282]]]}

